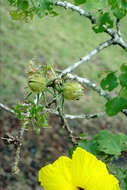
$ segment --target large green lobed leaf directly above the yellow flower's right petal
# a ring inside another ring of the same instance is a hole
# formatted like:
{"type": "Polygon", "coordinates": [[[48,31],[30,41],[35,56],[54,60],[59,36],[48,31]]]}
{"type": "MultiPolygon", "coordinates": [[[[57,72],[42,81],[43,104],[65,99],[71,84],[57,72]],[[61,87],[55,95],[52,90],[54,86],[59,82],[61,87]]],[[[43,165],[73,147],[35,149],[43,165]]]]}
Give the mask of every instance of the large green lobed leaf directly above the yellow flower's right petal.
{"type": "Polygon", "coordinates": [[[103,158],[105,155],[118,156],[127,149],[127,136],[122,133],[115,135],[109,130],[101,130],[92,139],[79,141],[78,146],[103,158]]]}

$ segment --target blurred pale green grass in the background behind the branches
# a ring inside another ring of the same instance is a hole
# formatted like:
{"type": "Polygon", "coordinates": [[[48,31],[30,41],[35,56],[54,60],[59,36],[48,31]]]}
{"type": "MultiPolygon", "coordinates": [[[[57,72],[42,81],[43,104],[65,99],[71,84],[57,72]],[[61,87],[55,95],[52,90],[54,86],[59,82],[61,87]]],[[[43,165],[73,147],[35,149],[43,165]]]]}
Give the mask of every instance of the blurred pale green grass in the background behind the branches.
{"type": "MultiPolygon", "coordinates": [[[[23,99],[31,59],[45,59],[64,69],[110,38],[107,34],[95,34],[87,19],[62,8],[57,8],[57,17],[34,18],[27,24],[12,20],[8,9],[3,0],[0,5],[0,101],[6,104],[13,105],[23,99]]],[[[121,31],[127,40],[126,19],[122,21],[121,31]]],[[[84,63],[75,73],[99,84],[98,74],[107,69],[119,69],[126,59],[126,53],[120,47],[112,46],[84,63]]],[[[81,102],[85,102],[82,110],[88,112],[104,109],[104,99],[89,89],[81,102]]]]}

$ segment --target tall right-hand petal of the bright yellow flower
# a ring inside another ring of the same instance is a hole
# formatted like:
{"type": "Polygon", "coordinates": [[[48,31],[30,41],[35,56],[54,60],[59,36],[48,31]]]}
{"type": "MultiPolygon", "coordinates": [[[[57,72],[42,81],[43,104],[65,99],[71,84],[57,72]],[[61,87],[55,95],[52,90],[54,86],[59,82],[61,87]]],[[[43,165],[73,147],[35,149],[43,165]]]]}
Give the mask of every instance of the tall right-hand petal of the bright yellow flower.
{"type": "Polygon", "coordinates": [[[76,187],[85,190],[120,190],[118,180],[94,155],[77,148],[72,156],[72,178],[76,187]]]}

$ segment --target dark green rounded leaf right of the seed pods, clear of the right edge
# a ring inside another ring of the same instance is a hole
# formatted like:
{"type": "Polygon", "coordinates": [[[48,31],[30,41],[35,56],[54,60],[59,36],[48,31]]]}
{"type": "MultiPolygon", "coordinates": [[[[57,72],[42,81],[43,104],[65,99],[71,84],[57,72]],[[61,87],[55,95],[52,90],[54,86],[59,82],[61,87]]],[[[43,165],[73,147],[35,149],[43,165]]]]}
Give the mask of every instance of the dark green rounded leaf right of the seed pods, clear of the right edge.
{"type": "Polygon", "coordinates": [[[112,91],[118,86],[117,77],[114,72],[109,73],[106,78],[101,81],[101,87],[103,90],[112,91]]]}

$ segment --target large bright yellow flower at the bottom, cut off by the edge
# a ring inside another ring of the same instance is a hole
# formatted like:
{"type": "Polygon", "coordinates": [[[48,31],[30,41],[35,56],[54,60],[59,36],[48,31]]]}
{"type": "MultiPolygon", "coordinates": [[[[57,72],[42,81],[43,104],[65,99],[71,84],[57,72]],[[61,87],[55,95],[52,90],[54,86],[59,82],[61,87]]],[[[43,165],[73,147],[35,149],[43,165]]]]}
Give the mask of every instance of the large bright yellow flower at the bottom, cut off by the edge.
{"type": "Polygon", "coordinates": [[[39,171],[44,190],[120,190],[118,180],[108,173],[106,165],[82,148],[72,159],[61,156],[39,171]]]}

